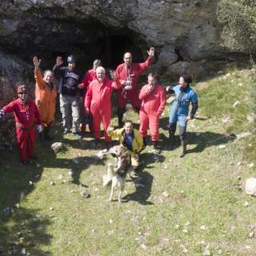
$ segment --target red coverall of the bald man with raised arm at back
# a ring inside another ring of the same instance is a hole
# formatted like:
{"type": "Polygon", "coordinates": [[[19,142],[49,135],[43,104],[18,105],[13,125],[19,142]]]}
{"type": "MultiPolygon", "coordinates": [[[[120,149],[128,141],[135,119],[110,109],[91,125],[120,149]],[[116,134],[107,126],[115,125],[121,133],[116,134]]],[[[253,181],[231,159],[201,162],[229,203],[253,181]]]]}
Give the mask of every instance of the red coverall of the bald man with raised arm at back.
{"type": "Polygon", "coordinates": [[[138,78],[142,74],[144,70],[146,70],[150,64],[154,61],[154,58],[147,58],[146,62],[143,63],[132,63],[130,65],[129,69],[126,69],[126,66],[124,63],[120,64],[117,69],[115,70],[115,76],[118,78],[118,80],[127,80],[129,74],[134,74],[134,77],[130,78],[131,81],[131,90],[126,90],[126,98],[123,96],[123,88],[118,90],[118,108],[124,108],[126,107],[126,104],[128,102],[128,99],[130,99],[130,104],[134,108],[139,108],[141,106],[141,101],[138,98],[138,78]]]}

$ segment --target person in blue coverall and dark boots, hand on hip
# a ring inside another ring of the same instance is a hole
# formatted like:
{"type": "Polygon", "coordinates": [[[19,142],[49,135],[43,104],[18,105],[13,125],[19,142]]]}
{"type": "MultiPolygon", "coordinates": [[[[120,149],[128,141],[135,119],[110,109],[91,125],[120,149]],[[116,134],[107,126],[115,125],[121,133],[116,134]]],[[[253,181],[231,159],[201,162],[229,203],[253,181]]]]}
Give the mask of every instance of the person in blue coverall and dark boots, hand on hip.
{"type": "Polygon", "coordinates": [[[179,155],[181,158],[186,154],[186,125],[187,122],[194,118],[198,110],[198,96],[194,90],[190,87],[192,79],[188,75],[182,75],[179,78],[177,86],[166,87],[166,92],[174,94],[174,102],[170,109],[169,118],[169,138],[170,146],[174,146],[174,134],[178,122],[179,126],[179,137],[182,141],[182,151],[179,155]],[[192,110],[189,114],[190,102],[192,103],[192,110]]]}

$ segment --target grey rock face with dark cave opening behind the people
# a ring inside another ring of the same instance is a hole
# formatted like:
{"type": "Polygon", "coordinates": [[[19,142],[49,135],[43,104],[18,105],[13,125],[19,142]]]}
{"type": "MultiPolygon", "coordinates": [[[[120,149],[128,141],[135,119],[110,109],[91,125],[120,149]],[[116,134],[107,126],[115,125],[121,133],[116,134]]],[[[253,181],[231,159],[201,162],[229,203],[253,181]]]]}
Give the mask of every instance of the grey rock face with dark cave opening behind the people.
{"type": "Polygon", "coordinates": [[[200,73],[202,60],[228,54],[219,42],[217,6],[217,0],[5,0],[0,45],[26,62],[40,55],[43,67],[72,52],[83,69],[94,58],[115,68],[126,50],[140,62],[155,46],[158,70],[200,73]]]}

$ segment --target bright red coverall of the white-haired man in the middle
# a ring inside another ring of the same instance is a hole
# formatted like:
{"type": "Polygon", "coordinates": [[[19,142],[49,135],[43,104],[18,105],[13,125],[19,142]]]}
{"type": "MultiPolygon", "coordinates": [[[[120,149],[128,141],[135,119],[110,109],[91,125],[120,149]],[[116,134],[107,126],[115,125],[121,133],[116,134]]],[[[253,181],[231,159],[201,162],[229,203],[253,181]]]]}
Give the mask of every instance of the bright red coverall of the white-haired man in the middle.
{"type": "Polygon", "coordinates": [[[114,89],[121,87],[121,83],[117,80],[113,82],[104,78],[102,85],[98,79],[90,82],[88,86],[85,107],[90,109],[93,116],[94,136],[101,137],[101,119],[104,127],[104,135],[106,142],[110,142],[111,138],[107,134],[107,127],[110,125],[111,118],[111,95],[114,89]]]}

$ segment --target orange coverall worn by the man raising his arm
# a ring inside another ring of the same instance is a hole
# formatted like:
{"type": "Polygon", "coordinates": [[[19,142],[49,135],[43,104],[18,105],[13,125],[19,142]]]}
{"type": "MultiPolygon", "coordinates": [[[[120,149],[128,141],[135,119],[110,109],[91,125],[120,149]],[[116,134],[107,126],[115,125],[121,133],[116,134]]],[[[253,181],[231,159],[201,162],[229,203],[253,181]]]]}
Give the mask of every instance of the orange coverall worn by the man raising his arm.
{"type": "Polygon", "coordinates": [[[57,97],[57,86],[53,84],[52,90],[50,86],[42,79],[41,70],[34,71],[35,79],[35,103],[38,106],[39,113],[42,118],[42,123],[45,126],[49,126],[51,122],[54,122],[55,105],[57,97]]]}

